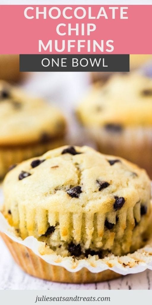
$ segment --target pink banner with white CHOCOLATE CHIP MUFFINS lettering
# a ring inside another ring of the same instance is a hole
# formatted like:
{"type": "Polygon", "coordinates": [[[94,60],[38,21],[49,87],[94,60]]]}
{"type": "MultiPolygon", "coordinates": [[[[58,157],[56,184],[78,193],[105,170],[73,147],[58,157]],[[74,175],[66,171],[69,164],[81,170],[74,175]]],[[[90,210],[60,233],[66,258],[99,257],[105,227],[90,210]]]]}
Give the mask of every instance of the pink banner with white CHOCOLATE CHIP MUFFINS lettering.
{"type": "Polygon", "coordinates": [[[0,5],[1,54],[151,54],[152,5],[0,5]]]}

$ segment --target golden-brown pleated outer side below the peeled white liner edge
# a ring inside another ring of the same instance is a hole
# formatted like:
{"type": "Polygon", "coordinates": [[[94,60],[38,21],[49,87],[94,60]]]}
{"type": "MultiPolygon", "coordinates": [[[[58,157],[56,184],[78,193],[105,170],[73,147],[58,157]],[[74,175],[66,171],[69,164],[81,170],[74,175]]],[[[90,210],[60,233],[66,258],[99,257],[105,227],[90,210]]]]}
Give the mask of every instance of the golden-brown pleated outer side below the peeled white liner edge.
{"type": "Polygon", "coordinates": [[[64,267],[48,264],[31,249],[14,242],[5,233],[0,233],[16,263],[27,273],[37,278],[63,283],[93,283],[112,280],[122,276],[112,270],[92,273],[86,268],[77,272],[67,271],[64,267]]]}

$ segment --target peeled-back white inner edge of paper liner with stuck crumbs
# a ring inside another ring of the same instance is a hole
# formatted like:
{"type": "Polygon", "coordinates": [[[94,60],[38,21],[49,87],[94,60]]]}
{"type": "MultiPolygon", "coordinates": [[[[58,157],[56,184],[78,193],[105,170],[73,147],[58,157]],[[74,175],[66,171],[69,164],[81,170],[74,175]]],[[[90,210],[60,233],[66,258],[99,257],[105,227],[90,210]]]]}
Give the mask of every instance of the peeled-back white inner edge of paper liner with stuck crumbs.
{"type": "Polygon", "coordinates": [[[0,231],[5,233],[14,242],[31,249],[33,253],[48,264],[64,267],[70,272],[80,271],[84,267],[92,273],[99,273],[109,269],[121,275],[139,273],[146,269],[152,270],[152,238],[143,248],[122,257],[109,254],[109,256],[103,259],[97,259],[97,256],[92,256],[87,259],[76,260],[72,257],[61,257],[56,254],[41,255],[39,249],[44,243],[39,242],[33,236],[29,236],[24,240],[16,237],[13,233],[13,228],[8,224],[2,213],[0,213],[0,231]]]}

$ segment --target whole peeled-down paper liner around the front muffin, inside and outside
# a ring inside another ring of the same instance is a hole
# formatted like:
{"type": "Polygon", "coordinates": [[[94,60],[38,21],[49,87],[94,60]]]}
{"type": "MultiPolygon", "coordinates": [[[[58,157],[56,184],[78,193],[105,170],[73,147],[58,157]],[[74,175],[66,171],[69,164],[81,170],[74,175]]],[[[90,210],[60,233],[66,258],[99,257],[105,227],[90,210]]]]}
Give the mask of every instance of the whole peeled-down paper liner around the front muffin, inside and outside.
{"type": "Polygon", "coordinates": [[[1,236],[15,261],[27,273],[56,282],[100,282],[121,275],[152,270],[152,236],[147,245],[134,253],[117,257],[109,254],[103,259],[97,256],[77,260],[56,254],[44,254],[45,244],[33,236],[22,240],[16,237],[13,228],[0,213],[1,236]]]}

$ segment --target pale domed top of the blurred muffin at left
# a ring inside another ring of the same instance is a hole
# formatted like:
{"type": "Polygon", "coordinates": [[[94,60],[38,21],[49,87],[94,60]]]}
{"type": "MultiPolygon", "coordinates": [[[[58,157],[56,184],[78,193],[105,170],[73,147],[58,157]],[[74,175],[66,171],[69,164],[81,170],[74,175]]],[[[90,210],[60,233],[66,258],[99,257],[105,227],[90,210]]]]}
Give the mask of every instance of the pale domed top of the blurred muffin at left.
{"type": "Polygon", "coordinates": [[[63,135],[65,120],[56,107],[0,81],[0,145],[26,145],[63,135]]]}

